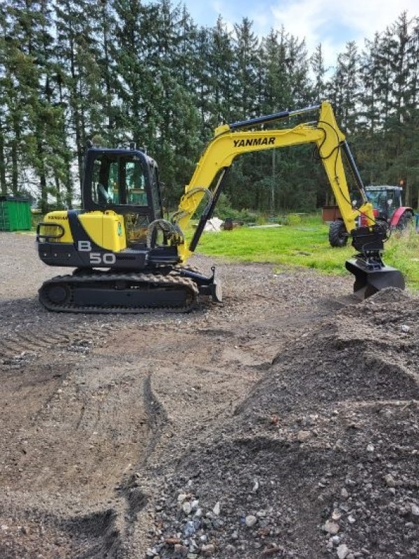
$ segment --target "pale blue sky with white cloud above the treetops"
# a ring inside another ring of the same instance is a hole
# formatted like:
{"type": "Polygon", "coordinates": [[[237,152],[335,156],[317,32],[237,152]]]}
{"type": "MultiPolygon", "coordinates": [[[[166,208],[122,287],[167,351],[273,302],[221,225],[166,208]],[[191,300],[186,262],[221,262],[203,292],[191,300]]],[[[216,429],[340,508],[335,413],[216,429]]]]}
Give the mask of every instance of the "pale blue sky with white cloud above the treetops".
{"type": "Polygon", "coordinates": [[[406,11],[419,16],[419,0],[184,0],[196,23],[212,27],[221,14],[228,27],[243,17],[253,21],[253,29],[265,36],[281,29],[305,38],[309,55],[322,43],[326,66],[335,66],[339,52],[348,41],[360,50],[365,38],[395,22],[406,11]]]}

